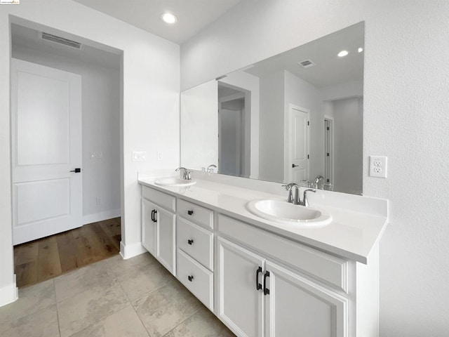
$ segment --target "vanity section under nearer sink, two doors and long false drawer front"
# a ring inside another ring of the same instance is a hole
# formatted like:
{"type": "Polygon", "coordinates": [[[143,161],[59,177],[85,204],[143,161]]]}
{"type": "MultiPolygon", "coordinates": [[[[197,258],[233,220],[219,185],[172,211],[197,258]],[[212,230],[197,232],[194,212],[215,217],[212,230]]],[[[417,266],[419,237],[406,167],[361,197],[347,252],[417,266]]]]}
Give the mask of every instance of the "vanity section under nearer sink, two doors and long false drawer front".
{"type": "Polygon", "coordinates": [[[238,336],[349,336],[349,296],[341,284],[326,285],[344,277],[347,261],[300,244],[289,246],[283,238],[221,214],[217,218],[217,315],[238,336]],[[285,252],[304,272],[275,262],[285,252]],[[311,258],[318,264],[311,269],[297,261],[311,258]],[[327,275],[312,275],[315,267],[326,266],[327,275]]]}

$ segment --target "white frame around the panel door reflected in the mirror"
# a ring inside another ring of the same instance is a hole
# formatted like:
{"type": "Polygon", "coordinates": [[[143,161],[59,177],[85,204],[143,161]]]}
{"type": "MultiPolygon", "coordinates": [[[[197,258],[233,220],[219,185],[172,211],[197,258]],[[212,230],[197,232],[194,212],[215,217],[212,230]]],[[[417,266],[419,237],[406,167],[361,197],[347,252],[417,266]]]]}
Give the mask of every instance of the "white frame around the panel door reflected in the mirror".
{"type": "MultiPolygon", "coordinates": [[[[292,145],[290,144],[290,137],[292,133],[291,129],[291,118],[292,118],[292,110],[300,110],[308,115],[308,119],[310,121],[310,110],[305,107],[300,107],[299,105],[295,105],[290,103],[285,110],[284,116],[284,164],[283,164],[283,182],[291,183],[293,181],[293,171],[291,170],[292,164],[292,145]]],[[[310,132],[307,132],[307,153],[310,154],[310,132]]],[[[307,177],[310,172],[310,159],[307,159],[307,177]]]]}

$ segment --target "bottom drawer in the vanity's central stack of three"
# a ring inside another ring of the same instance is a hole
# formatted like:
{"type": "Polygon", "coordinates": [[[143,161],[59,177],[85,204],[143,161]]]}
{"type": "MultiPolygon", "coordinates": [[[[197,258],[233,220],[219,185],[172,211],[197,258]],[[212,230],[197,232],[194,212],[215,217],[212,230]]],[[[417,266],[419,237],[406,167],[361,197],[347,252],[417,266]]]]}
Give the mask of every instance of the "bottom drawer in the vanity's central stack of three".
{"type": "Polygon", "coordinates": [[[213,310],[213,273],[180,249],[177,250],[177,279],[213,310]]]}

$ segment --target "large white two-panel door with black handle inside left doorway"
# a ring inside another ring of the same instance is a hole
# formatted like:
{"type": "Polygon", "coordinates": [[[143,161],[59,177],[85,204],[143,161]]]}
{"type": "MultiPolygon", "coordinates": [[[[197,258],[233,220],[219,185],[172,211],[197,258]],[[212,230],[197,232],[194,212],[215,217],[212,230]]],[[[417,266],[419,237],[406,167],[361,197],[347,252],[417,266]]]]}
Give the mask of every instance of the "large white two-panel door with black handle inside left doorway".
{"type": "Polygon", "coordinates": [[[81,226],[81,76],[11,62],[13,244],[81,226]]]}

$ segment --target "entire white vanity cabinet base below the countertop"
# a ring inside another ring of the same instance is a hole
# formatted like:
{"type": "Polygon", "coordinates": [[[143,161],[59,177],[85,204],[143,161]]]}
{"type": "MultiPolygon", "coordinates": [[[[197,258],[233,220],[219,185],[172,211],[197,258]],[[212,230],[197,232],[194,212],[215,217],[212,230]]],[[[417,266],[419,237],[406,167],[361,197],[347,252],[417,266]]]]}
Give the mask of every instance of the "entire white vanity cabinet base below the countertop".
{"type": "Polygon", "coordinates": [[[357,263],[168,193],[142,187],[142,245],[237,336],[378,336],[377,243],[357,263]]]}

